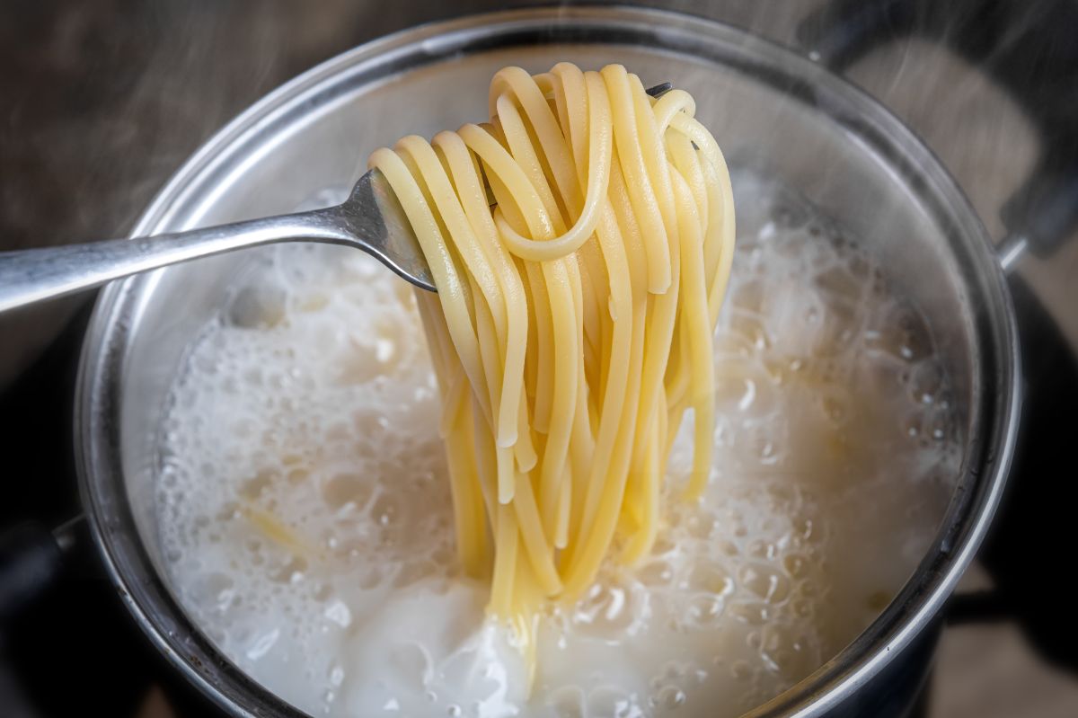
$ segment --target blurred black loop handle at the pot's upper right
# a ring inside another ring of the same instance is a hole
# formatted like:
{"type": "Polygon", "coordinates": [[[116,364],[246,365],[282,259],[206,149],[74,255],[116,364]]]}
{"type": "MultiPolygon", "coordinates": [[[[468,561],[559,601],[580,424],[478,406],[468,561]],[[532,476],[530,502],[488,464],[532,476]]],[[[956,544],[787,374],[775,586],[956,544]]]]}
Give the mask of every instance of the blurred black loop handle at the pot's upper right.
{"type": "Polygon", "coordinates": [[[1040,161],[1000,208],[1004,268],[1051,254],[1078,230],[1078,3],[1073,0],[833,0],[798,27],[814,60],[843,71],[902,37],[936,40],[991,75],[1040,135],[1040,161]]]}

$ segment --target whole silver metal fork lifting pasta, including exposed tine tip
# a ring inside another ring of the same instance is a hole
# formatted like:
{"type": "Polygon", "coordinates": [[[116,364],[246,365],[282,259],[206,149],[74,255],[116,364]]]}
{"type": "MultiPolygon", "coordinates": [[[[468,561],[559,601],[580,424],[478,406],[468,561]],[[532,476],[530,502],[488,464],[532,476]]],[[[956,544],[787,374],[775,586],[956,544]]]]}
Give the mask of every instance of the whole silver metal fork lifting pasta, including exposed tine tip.
{"type": "MultiPolygon", "coordinates": [[[[659,97],[664,82],[647,92],[659,97]]],[[[356,247],[428,291],[430,266],[386,178],[372,169],[335,207],[152,237],[0,252],[0,312],[201,257],[279,241],[356,247]]]]}

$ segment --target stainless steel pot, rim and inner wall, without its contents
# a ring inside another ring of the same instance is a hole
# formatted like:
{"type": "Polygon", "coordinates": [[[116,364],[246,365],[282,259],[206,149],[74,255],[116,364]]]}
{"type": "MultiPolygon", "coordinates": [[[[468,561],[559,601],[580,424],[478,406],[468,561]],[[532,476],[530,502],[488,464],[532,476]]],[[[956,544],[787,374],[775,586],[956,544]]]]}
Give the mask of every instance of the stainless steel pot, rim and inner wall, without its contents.
{"type": "MultiPolygon", "coordinates": [[[[258,102],[177,172],[134,232],[290,210],[346,185],[375,147],[471,119],[497,68],[561,59],[623,63],[648,83],[689,88],[733,164],[798,190],[863,238],[929,318],[966,437],[939,535],[861,636],[752,714],[883,715],[896,680],[924,676],[900,671],[902,661],[918,639],[930,645],[992,519],[1014,446],[1020,372],[1007,286],[980,221],[931,152],[852,85],[738,30],[664,12],[527,10],[428,25],[338,56],[258,102]]],[[[183,613],[163,579],[153,520],[155,427],[169,386],[246,261],[178,266],[101,294],[79,377],[78,467],[105,563],[153,643],[231,714],[295,716],[183,613]]]]}

